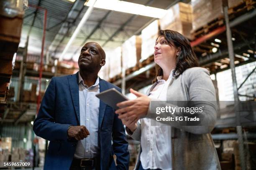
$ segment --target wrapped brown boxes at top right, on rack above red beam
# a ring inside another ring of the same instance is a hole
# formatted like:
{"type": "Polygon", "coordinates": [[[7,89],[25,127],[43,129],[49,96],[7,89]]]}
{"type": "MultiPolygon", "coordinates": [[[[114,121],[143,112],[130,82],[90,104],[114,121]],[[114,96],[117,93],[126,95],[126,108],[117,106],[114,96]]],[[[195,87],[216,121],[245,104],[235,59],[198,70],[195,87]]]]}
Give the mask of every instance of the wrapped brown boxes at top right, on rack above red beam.
{"type": "MultiPolygon", "coordinates": [[[[228,7],[235,7],[242,2],[243,0],[228,0],[228,7]]],[[[193,31],[223,17],[222,0],[191,0],[191,5],[193,8],[193,31]]]]}

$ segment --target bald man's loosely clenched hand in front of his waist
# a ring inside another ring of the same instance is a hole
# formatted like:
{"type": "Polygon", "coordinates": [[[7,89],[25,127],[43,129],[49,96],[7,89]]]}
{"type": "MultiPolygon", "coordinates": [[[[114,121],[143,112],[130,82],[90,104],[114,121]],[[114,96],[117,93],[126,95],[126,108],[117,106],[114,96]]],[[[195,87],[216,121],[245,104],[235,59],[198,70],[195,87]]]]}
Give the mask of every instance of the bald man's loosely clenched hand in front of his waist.
{"type": "Polygon", "coordinates": [[[67,130],[69,138],[75,138],[76,140],[82,140],[90,135],[89,131],[85,126],[71,126],[67,130]]]}

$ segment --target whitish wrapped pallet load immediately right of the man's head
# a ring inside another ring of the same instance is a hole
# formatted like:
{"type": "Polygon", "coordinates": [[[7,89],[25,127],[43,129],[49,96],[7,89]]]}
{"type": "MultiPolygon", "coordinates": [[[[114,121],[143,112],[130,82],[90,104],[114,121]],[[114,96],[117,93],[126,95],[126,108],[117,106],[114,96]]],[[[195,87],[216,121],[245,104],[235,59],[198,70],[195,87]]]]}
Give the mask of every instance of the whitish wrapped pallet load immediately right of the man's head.
{"type": "Polygon", "coordinates": [[[113,78],[116,75],[121,74],[121,47],[117,47],[114,50],[106,51],[106,57],[109,57],[110,71],[109,77],[113,78]]]}

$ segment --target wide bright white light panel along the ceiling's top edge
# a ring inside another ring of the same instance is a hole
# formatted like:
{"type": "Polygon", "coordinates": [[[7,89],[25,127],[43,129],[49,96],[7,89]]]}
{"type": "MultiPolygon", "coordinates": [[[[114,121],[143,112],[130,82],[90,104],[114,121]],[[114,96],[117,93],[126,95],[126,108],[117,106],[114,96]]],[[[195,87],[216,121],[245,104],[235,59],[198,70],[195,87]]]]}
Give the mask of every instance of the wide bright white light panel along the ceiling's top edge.
{"type": "MultiPolygon", "coordinates": [[[[92,6],[92,4],[93,0],[89,0],[88,2],[84,3],[84,5],[88,7],[92,6]]],[[[114,10],[122,13],[143,15],[152,18],[163,18],[167,12],[167,10],[163,10],[160,8],[149,7],[121,0],[97,0],[94,7],[105,10],[114,10]]]]}

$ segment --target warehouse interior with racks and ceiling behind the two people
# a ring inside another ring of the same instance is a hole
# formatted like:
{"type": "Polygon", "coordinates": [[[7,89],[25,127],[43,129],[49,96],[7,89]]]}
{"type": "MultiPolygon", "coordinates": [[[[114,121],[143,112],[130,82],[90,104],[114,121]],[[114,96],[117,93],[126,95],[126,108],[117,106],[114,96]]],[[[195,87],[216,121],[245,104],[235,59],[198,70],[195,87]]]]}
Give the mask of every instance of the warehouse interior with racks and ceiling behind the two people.
{"type": "MultiPolygon", "coordinates": [[[[210,73],[222,170],[256,170],[255,0],[2,0],[0,7],[0,162],[43,169],[49,141],[34,134],[33,120],[51,78],[79,71],[86,42],[105,50],[99,77],[132,99],[130,88],[151,86],[157,34],[169,29],[189,39],[210,73]],[[254,110],[240,117],[236,101],[254,110]]],[[[133,169],[140,142],[127,138],[133,169]]]]}

